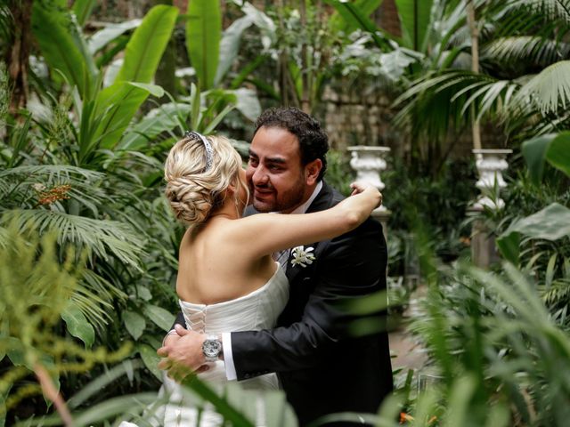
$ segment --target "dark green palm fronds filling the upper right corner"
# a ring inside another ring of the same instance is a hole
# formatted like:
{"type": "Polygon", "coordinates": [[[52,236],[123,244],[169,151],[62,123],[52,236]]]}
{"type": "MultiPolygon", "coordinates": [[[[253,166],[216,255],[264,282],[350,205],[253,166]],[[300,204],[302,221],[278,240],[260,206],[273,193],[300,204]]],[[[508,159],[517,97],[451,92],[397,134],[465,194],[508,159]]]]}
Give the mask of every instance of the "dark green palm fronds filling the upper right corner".
{"type": "Polygon", "coordinates": [[[399,100],[405,104],[401,117],[408,117],[406,123],[418,132],[427,129],[440,139],[450,128],[481,118],[504,126],[513,141],[566,129],[564,35],[569,21],[564,3],[475,2],[480,71],[442,68],[419,76],[399,100]]]}

